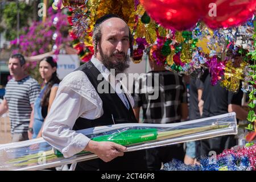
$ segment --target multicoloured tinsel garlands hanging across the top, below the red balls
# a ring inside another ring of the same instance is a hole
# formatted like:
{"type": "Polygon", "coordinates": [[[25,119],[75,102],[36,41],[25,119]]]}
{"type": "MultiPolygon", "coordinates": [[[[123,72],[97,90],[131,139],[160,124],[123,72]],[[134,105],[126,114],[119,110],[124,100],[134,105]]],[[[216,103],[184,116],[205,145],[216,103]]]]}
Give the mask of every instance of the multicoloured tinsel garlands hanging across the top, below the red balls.
{"type": "MultiPolygon", "coordinates": [[[[79,41],[75,39],[74,44],[79,52],[82,47],[87,48],[86,51],[81,51],[81,56],[86,54],[86,60],[93,55],[89,53],[93,48],[90,47],[93,24],[97,18],[107,13],[118,14],[128,22],[135,40],[134,63],[140,63],[143,54],[148,53],[157,64],[181,74],[190,75],[196,69],[208,67],[213,75],[213,85],[216,85],[217,81],[224,81],[224,85],[230,89],[233,88],[232,85],[227,84],[228,80],[225,81],[228,73],[226,77],[224,75],[225,55],[223,53],[232,47],[230,44],[236,45],[232,49],[237,47],[249,51],[254,49],[252,22],[255,17],[238,27],[211,30],[203,22],[199,22],[191,31],[175,31],[166,30],[156,24],[138,0],[66,0],[63,4],[73,9],[69,22],[72,22],[73,34],[79,38],[79,41]],[[77,44],[79,42],[80,44],[77,44]]],[[[228,68],[226,70],[228,71],[228,68]]],[[[247,74],[245,70],[243,72],[247,74]]]]}

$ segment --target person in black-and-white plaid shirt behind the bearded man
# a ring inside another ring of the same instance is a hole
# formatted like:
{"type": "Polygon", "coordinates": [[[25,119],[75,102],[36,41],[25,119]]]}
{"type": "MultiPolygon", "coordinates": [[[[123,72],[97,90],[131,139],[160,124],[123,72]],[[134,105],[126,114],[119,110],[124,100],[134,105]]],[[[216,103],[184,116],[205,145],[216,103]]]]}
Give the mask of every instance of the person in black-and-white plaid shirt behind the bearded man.
{"type": "MultiPolygon", "coordinates": [[[[149,62],[152,71],[134,81],[132,95],[135,117],[139,121],[139,110],[142,107],[144,123],[176,123],[187,119],[187,89],[182,77],[167,71],[163,65],[156,64],[152,59],[149,62]],[[158,92],[158,97],[152,99],[155,92],[158,92]]],[[[162,163],[170,162],[174,158],[184,160],[183,143],[146,150],[149,170],[159,170],[162,163]]]]}

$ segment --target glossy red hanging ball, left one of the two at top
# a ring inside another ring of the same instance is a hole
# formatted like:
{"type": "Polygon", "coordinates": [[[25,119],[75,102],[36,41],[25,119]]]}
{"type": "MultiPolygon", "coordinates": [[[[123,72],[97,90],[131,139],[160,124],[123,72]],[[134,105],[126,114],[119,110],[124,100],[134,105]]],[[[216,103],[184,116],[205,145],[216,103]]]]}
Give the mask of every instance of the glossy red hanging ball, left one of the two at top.
{"type": "Polygon", "coordinates": [[[201,17],[201,0],[140,0],[142,6],[163,27],[187,30],[201,17]]]}

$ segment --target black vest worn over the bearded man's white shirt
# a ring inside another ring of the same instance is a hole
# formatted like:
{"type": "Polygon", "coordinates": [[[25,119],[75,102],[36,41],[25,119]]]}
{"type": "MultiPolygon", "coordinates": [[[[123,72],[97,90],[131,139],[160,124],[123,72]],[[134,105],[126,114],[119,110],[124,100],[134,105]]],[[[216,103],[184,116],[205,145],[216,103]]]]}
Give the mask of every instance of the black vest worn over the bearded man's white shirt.
{"type": "MultiPolygon", "coordinates": [[[[116,93],[110,92],[110,89],[113,89],[112,86],[104,78],[102,80],[97,80],[100,71],[93,65],[91,61],[83,64],[81,67],[77,68],[75,71],[82,71],[89,78],[89,81],[92,83],[98,96],[102,100],[102,108],[104,114],[97,119],[85,119],[78,118],[73,126],[73,130],[82,130],[88,129],[90,127],[96,126],[105,126],[113,125],[119,123],[137,123],[137,119],[134,116],[133,108],[126,96],[127,101],[129,102],[129,110],[123,104],[122,100],[116,93]],[[99,93],[98,84],[101,81],[105,81],[109,88],[109,93],[99,93]]],[[[86,84],[86,83],[85,83],[86,84]]],[[[146,170],[146,159],[145,151],[134,151],[134,152],[125,152],[125,155],[113,159],[111,162],[105,163],[101,159],[93,159],[86,162],[77,163],[76,170],[146,170]]]]}

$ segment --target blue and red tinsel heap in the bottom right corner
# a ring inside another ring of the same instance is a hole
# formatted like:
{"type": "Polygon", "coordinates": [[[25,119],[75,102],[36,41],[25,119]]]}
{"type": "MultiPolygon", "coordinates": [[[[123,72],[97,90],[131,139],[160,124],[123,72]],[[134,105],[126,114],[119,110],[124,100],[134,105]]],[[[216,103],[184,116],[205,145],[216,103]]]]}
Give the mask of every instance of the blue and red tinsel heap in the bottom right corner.
{"type": "Polygon", "coordinates": [[[256,145],[224,150],[216,158],[201,158],[200,165],[185,165],[179,160],[164,164],[165,171],[255,171],[256,145]]]}

